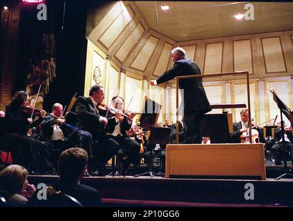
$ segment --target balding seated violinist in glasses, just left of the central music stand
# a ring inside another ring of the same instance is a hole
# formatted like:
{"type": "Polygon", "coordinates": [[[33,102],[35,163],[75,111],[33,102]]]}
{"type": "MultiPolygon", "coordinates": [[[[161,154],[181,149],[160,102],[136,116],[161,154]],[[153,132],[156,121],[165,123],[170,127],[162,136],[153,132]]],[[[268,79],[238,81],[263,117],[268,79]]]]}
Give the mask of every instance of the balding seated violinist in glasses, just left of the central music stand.
{"type": "Polygon", "coordinates": [[[121,159],[123,157],[121,154],[117,155],[116,169],[118,169],[117,166],[123,160],[122,175],[126,175],[126,169],[131,163],[133,164],[133,173],[136,173],[136,168],[140,162],[140,144],[126,134],[126,131],[131,128],[133,117],[136,114],[129,113],[128,115],[122,115],[123,102],[124,99],[122,97],[113,97],[113,108],[117,109],[117,112],[115,113],[115,117],[108,119],[106,131],[108,137],[111,137],[117,144],[120,144],[120,148],[123,150],[123,155],[126,159],[121,159]]]}

